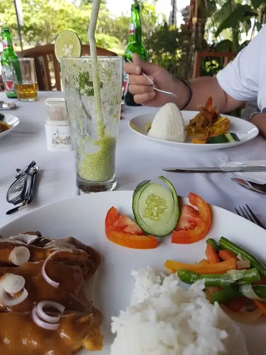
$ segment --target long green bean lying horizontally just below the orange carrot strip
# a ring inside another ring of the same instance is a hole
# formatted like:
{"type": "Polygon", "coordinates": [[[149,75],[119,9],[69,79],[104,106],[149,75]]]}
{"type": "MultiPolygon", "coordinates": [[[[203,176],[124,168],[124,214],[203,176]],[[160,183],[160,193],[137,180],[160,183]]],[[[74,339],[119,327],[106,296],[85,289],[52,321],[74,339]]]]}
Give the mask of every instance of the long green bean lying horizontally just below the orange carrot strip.
{"type": "Polygon", "coordinates": [[[258,270],[253,268],[250,270],[246,270],[243,278],[240,278],[236,281],[230,276],[230,274],[220,274],[220,275],[205,275],[205,274],[197,274],[188,270],[178,270],[177,275],[181,281],[185,283],[192,284],[198,280],[205,279],[206,287],[222,287],[226,288],[231,286],[232,284],[247,284],[260,280],[260,275],[258,270]]]}

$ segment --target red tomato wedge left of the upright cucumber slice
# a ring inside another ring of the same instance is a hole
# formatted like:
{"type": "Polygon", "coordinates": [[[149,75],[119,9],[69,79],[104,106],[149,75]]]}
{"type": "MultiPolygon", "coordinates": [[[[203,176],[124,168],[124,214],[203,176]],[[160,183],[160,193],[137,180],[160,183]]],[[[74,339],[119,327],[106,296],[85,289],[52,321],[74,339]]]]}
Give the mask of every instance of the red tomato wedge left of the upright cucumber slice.
{"type": "Polygon", "coordinates": [[[125,215],[118,215],[118,210],[111,207],[105,217],[105,234],[113,243],[134,249],[153,249],[158,240],[153,235],[144,235],[139,226],[125,215]]]}

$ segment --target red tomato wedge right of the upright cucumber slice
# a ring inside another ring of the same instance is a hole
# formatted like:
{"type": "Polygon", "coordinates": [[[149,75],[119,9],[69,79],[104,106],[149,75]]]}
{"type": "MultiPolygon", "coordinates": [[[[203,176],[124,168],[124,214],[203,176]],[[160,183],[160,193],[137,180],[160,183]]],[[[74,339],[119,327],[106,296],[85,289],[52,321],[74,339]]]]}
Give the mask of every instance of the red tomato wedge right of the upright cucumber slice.
{"type": "Polygon", "coordinates": [[[189,194],[190,203],[197,207],[185,205],[182,207],[177,227],[172,235],[172,243],[191,244],[203,239],[211,226],[210,209],[201,197],[189,194]]]}

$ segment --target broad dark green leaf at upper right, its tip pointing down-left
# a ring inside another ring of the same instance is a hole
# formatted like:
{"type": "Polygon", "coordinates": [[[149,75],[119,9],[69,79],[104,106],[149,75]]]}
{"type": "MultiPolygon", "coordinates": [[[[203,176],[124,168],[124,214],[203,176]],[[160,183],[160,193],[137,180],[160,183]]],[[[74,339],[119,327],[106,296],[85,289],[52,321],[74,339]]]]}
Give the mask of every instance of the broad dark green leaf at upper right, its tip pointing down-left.
{"type": "Polygon", "coordinates": [[[252,10],[249,5],[237,4],[236,9],[220,25],[215,33],[215,37],[219,36],[225,29],[237,29],[239,22],[244,22],[247,20],[247,17],[257,16],[258,14],[254,13],[252,10]]]}

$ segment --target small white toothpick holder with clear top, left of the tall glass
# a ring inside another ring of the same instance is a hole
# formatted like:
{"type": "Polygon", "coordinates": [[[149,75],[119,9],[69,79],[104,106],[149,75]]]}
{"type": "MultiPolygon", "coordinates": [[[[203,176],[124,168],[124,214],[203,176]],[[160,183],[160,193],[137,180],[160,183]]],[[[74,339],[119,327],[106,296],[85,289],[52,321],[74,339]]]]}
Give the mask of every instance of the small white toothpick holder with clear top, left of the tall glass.
{"type": "Polygon", "coordinates": [[[45,100],[45,108],[45,133],[48,151],[73,151],[65,100],[63,98],[48,98],[45,100]]]}

